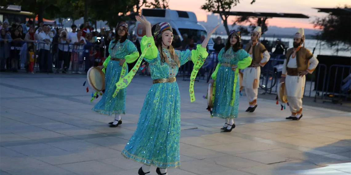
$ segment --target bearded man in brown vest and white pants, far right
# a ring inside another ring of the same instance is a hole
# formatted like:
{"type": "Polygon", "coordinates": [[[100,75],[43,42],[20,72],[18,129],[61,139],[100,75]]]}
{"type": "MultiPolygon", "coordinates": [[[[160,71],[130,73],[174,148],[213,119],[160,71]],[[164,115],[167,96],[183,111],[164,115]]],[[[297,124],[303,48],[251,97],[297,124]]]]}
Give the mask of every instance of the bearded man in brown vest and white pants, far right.
{"type": "MultiPolygon", "coordinates": [[[[312,73],[318,65],[318,60],[310,50],[302,47],[305,41],[304,29],[300,28],[294,36],[293,48],[286,51],[282,78],[285,82],[287,101],[291,116],[286,119],[300,120],[302,117],[302,97],[305,90],[306,74],[312,73]]],[[[305,46],[305,44],[304,44],[305,46]]]]}

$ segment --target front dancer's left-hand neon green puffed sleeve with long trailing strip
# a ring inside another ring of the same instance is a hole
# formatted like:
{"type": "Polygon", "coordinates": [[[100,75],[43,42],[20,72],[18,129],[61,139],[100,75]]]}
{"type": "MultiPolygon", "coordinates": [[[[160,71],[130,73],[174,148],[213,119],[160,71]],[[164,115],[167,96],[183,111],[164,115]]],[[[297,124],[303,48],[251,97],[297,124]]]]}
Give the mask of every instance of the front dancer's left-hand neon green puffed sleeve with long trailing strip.
{"type": "MultiPolygon", "coordinates": [[[[121,73],[121,76],[118,80],[118,82],[116,83],[116,90],[113,93],[113,98],[115,98],[117,96],[117,93],[119,92],[120,89],[126,88],[129,83],[132,81],[135,73],[137,73],[139,66],[141,64],[141,61],[143,61],[143,58],[145,58],[145,55],[148,54],[148,56],[150,56],[149,58],[154,59],[157,57],[157,48],[155,46],[155,42],[153,40],[152,37],[146,37],[144,36],[143,39],[141,40],[141,56],[139,57],[137,63],[135,63],[133,69],[126,75],[123,76],[124,74],[121,73]],[[153,47],[152,47],[153,45],[153,47]],[[155,50],[153,50],[155,49],[155,50]],[[153,57],[156,52],[156,57],[153,57]]],[[[147,58],[146,58],[147,59],[147,58]]],[[[126,67],[123,67],[122,70],[126,69],[126,67]]]]}

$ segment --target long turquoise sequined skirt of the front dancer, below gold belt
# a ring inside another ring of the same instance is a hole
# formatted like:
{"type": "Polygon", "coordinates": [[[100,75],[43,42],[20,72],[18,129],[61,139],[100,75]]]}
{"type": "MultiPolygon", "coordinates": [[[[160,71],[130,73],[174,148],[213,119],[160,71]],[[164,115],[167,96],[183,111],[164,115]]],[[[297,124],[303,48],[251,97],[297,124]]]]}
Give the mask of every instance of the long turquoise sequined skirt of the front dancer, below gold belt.
{"type": "Polygon", "coordinates": [[[153,84],[140,112],[137,130],[122,155],[145,165],[176,168],[179,159],[180,95],[177,82],[153,84]]]}

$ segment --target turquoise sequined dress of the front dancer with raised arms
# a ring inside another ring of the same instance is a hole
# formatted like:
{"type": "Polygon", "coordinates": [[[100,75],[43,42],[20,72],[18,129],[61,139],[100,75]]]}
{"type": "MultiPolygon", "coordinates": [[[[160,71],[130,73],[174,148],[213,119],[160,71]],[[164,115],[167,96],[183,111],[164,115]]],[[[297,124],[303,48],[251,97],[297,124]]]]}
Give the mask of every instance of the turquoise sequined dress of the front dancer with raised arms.
{"type": "MultiPolygon", "coordinates": [[[[169,58],[170,64],[162,63],[160,53],[152,37],[144,36],[141,40],[141,50],[151,44],[145,54],[145,61],[149,63],[151,78],[172,78],[178,73],[178,65],[169,58]]],[[[170,52],[163,49],[167,57],[170,52]]],[[[180,65],[192,60],[198,62],[198,57],[206,58],[205,48],[198,45],[196,50],[178,51],[176,54],[180,65]]],[[[203,60],[204,59],[200,59],[203,60]]],[[[195,75],[196,76],[196,75],[195,75]]],[[[153,84],[146,94],[141,109],[137,130],[122,151],[127,159],[145,165],[159,168],[176,168],[179,159],[180,138],[180,95],[177,82],[153,84]]]]}

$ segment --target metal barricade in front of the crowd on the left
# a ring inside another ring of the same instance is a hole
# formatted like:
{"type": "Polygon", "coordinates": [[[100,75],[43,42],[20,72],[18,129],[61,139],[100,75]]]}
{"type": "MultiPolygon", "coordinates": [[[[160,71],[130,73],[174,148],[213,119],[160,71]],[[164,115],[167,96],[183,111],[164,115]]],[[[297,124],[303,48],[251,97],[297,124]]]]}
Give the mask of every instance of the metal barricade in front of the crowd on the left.
{"type": "MultiPolygon", "coordinates": [[[[1,43],[2,44],[2,43],[1,43]]],[[[1,47],[1,71],[81,73],[105,61],[105,45],[12,41],[1,47]],[[33,69],[30,67],[33,66],[33,69]]]]}

